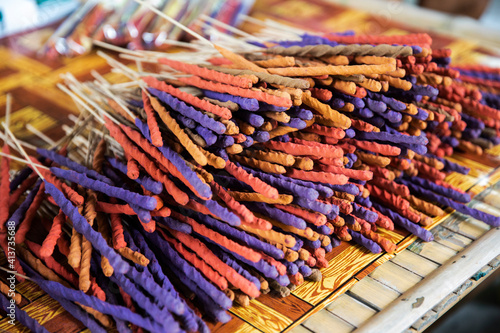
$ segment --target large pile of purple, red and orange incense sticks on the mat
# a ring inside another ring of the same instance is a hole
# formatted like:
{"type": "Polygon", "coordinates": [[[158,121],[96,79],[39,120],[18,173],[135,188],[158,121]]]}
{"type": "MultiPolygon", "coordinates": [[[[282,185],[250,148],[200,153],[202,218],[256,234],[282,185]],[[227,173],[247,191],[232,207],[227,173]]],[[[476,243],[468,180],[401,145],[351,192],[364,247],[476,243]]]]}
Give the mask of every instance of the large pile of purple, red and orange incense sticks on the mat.
{"type": "Polygon", "coordinates": [[[321,280],[341,241],[392,252],[377,230],[395,226],[429,241],[422,226],[447,208],[499,226],[444,180],[468,170],[443,158],[482,152],[460,132],[496,143],[497,100],[472,86],[494,80],[458,81],[431,42],[304,34],[246,54],[216,45],[211,65],[144,53],[149,74],[107,57],[127,84],[66,76],[87,120],[23,154],[12,180],[4,145],[0,246],[14,226],[19,279],[93,332],[205,332],[201,316],[227,322],[233,302],[321,280]]]}

